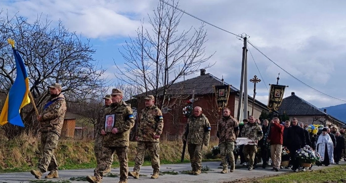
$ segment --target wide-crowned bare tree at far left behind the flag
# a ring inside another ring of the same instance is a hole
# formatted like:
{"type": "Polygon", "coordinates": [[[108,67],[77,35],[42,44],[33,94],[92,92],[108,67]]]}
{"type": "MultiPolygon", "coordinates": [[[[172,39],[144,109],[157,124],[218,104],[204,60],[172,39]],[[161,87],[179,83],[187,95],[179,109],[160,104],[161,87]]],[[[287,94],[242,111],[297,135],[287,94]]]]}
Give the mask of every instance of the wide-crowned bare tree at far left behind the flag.
{"type": "MultiPolygon", "coordinates": [[[[6,44],[7,38],[14,39],[16,49],[22,52],[30,91],[37,106],[47,98],[47,86],[51,83],[60,83],[62,92],[73,102],[92,98],[105,85],[102,78],[105,70],[92,58],[95,50],[89,41],[82,42],[80,36],[69,32],[60,21],[58,25],[50,23],[41,17],[32,24],[23,17],[0,17],[0,93],[7,94],[16,77],[15,61],[11,46],[6,44]]],[[[21,111],[25,130],[36,131],[35,111],[31,105],[27,106],[21,111]]],[[[11,125],[1,128],[19,133],[23,130],[11,125]]]]}

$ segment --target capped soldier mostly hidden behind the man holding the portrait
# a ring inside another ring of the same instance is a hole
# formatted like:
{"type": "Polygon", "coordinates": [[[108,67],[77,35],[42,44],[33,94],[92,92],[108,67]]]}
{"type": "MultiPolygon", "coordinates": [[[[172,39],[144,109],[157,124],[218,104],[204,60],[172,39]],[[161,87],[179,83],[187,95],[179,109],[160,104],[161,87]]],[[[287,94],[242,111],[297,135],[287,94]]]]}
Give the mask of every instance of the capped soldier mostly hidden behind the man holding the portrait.
{"type": "MultiPolygon", "coordinates": [[[[101,154],[102,154],[103,136],[101,135],[101,130],[102,130],[102,127],[105,125],[103,119],[105,117],[105,111],[107,110],[107,108],[109,108],[111,106],[111,103],[112,103],[112,97],[110,94],[106,94],[106,96],[103,97],[103,99],[104,99],[104,106],[101,107],[100,112],[99,112],[99,116],[97,119],[95,145],[94,145],[94,152],[95,152],[97,164],[99,163],[99,160],[100,160],[101,154]]],[[[113,156],[111,157],[111,161],[110,161],[108,169],[105,171],[105,173],[111,172],[112,162],[113,162],[113,156]]]]}

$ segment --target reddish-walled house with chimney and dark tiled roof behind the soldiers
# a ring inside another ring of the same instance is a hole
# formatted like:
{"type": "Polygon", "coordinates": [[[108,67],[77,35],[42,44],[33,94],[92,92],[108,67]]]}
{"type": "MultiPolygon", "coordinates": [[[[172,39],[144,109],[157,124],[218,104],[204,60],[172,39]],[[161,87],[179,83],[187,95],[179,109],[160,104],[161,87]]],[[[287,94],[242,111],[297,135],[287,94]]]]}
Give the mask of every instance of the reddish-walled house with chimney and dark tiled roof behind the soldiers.
{"type": "MultiPolygon", "coordinates": [[[[224,85],[229,85],[224,82],[224,85]]],[[[210,73],[205,73],[201,69],[200,76],[174,83],[165,98],[165,105],[159,106],[163,111],[164,117],[164,130],[163,135],[168,138],[175,138],[181,135],[183,127],[186,124],[186,118],[182,114],[182,109],[186,106],[186,101],[192,98],[193,90],[195,91],[194,106],[202,107],[203,113],[208,117],[212,126],[211,137],[216,137],[217,120],[220,119],[222,111],[216,107],[215,91],[213,86],[222,85],[222,81],[210,73]]],[[[160,90],[159,90],[160,91],[160,90]]],[[[231,86],[230,94],[228,97],[227,107],[231,111],[231,116],[237,118],[239,90],[231,86]]],[[[152,94],[152,92],[148,92],[152,94]]],[[[129,100],[131,107],[142,110],[144,106],[145,93],[135,95],[134,98],[129,100]]],[[[162,92],[158,92],[159,100],[162,101],[160,96],[162,92]]],[[[248,115],[252,111],[253,98],[248,96],[248,115]]],[[[160,103],[160,102],[159,102],[160,103]]],[[[268,111],[265,104],[255,100],[254,117],[259,118],[260,113],[265,110],[268,111]]]]}

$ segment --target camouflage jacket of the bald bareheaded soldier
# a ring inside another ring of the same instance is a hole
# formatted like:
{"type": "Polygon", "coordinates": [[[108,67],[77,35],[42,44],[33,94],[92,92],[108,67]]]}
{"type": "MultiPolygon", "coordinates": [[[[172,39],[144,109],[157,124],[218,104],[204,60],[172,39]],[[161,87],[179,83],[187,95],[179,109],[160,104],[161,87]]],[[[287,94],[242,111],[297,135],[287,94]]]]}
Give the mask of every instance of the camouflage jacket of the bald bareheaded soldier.
{"type": "MultiPolygon", "coordinates": [[[[187,120],[187,125],[184,128],[184,132],[187,134],[187,143],[198,145],[204,144],[208,146],[210,130],[210,123],[204,114],[201,114],[198,117],[195,117],[192,114],[187,120]]],[[[185,136],[183,136],[183,139],[185,139],[185,136]]]]}

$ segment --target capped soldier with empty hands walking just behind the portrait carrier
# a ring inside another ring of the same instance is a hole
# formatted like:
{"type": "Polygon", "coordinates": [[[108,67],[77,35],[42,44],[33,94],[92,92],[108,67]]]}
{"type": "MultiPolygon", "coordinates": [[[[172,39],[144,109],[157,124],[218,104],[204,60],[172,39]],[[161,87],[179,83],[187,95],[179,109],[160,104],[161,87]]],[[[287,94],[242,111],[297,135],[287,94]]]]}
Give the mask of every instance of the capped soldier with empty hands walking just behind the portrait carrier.
{"type": "Polygon", "coordinates": [[[144,99],[145,108],[139,114],[136,131],[137,155],[133,172],[129,172],[129,176],[135,179],[139,178],[140,166],[143,164],[145,150],[148,149],[151,157],[151,167],[154,169],[151,179],[157,179],[160,171],[159,138],[164,128],[164,119],[161,110],[154,105],[154,96],[148,95],[144,99]]]}

